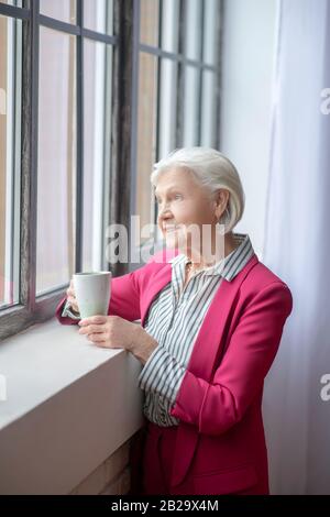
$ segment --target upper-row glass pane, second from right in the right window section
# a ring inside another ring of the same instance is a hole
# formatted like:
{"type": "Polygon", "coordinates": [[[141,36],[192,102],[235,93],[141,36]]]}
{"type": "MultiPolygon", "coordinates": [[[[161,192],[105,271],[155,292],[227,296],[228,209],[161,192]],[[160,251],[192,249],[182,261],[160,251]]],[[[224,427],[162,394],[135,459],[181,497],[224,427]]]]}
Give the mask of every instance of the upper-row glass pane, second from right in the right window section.
{"type": "Polygon", "coordinates": [[[201,59],[202,4],[200,0],[186,2],[184,54],[189,59],[201,59]]]}

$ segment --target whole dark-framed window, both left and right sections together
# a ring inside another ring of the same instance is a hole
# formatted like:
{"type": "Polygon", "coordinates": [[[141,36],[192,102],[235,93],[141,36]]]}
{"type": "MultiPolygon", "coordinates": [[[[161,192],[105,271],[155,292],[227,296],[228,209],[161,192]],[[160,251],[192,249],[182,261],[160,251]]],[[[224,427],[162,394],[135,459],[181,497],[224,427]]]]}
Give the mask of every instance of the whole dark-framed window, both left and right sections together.
{"type": "Polygon", "coordinates": [[[0,339],[155,221],[155,160],[219,143],[220,0],[0,0],[0,339]]]}

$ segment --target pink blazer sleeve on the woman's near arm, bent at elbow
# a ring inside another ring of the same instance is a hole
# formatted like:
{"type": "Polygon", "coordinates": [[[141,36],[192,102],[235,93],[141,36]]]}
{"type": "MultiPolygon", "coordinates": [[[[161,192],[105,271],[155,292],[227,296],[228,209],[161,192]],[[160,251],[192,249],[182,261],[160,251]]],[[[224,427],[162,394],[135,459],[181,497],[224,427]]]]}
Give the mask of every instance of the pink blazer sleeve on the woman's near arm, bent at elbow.
{"type": "Polygon", "coordinates": [[[170,415],[217,436],[239,422],[263,386],[276,355],[293,298],[284,283],[257,293],[232,333],[211,383],[187,371],[170,415]]]}

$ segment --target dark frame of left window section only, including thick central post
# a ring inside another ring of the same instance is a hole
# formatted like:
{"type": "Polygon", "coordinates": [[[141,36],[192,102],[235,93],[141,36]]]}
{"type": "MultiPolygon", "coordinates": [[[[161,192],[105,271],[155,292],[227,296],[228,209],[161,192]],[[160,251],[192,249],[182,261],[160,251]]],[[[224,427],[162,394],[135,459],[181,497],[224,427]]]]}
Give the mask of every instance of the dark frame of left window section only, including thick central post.
{"type": "MultiPolygon", "coordinates": [[[[109,202],[106,217],[109,222],[129,223],[128,193],[131,174],[131,85],[132,56],[120,56],[132,47],[134,2],[113,0],[113,35],[84,28],[84,0],[77,0],[76,24],[62,22],[41,14],[40,0],[24,0],[23,7],[0,2],[0,14],[22,21],[22,119],[21,119],[21,229],[20,229],[20,302],[0,310],[0,340],[28,327],[54,317],[55,308],[65,296],[68,284],[37,296],[36,277],[36,201],[37,201],[37,129],[38,129],[38,44],[40,26],[54,29],[76,36],[77,45],[77,187],[76,187],[76,248],[75,271],[81,267],[82,251],[82,172],[84,172],[84,40],[110,44],[113,48],[111,110],[111,174],[106,172],[109,202]],[[79,78],[79,79],[78,79],[79,78]],[[120,199],[120,202],[119,202],[120,199]]],[[[113,264],[114,275],[128,271],[127,264],[113,264]]]]}

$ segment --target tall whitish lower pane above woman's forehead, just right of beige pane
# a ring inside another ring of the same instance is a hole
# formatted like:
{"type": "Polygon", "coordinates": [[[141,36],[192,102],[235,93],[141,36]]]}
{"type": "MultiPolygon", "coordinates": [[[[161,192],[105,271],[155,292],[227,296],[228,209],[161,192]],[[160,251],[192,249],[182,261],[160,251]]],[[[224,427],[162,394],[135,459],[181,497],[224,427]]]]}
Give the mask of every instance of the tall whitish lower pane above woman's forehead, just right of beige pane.
{"type": "Polygon", "coordinates": [[[170,59],[161,61],[160,98],[160,158],[176,146],[177,65],[170,59]]]}

